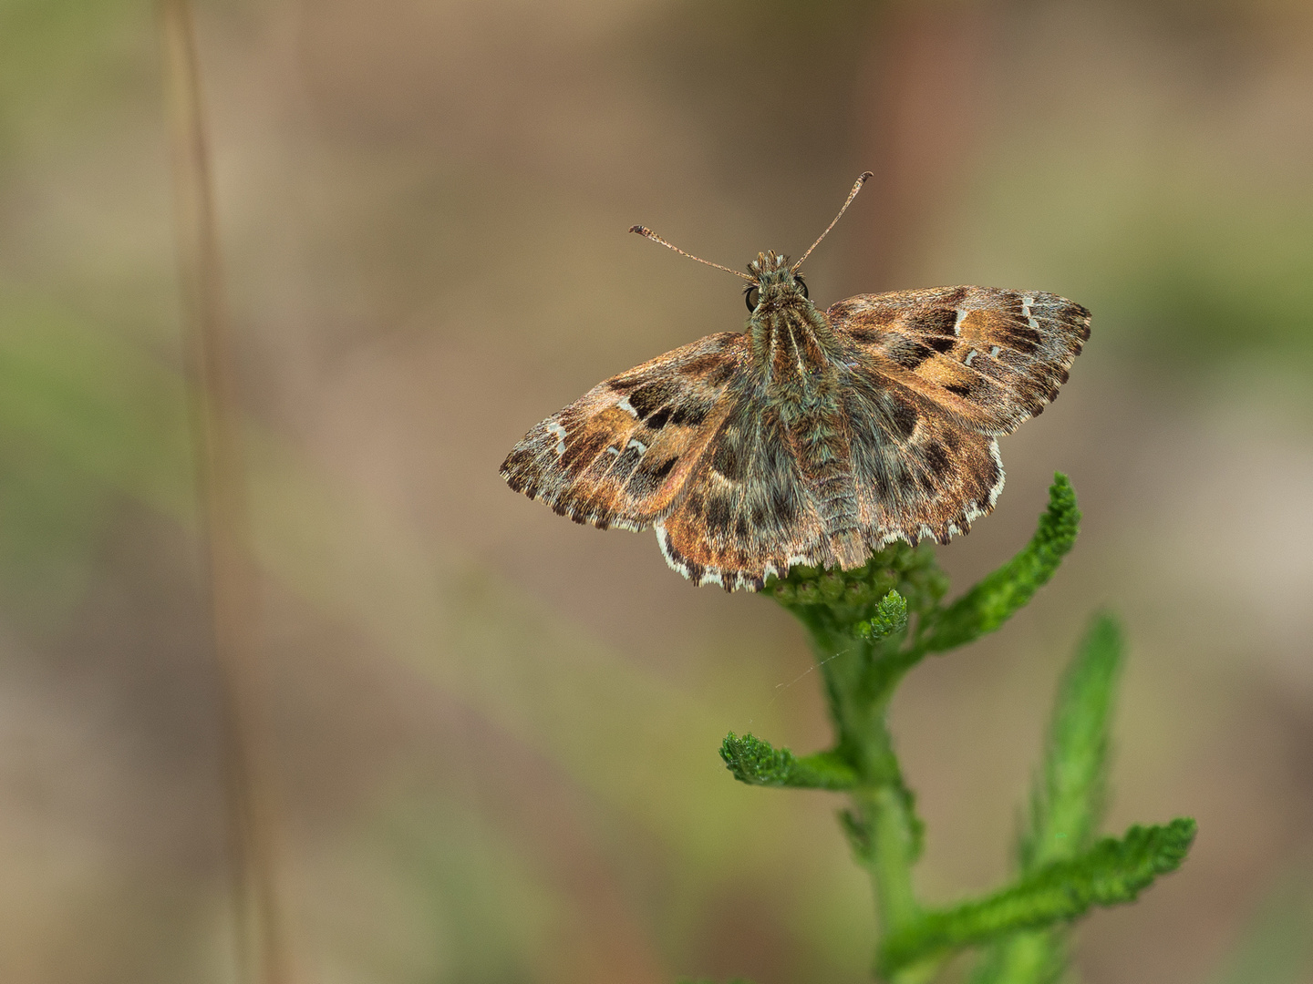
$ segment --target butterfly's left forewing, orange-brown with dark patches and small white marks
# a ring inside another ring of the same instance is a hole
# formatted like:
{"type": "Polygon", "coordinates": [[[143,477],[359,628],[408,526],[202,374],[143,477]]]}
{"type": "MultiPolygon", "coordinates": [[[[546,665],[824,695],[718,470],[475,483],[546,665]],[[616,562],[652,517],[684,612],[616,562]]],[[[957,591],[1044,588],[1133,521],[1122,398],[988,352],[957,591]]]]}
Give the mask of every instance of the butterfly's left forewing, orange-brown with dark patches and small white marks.
{"type": "Polygon", "coordinates": [[[747,337],[726,332],[599,383],[525,434],[502,478],[575,522],[646,529],[729,415],[747,358],[747,337]]]}

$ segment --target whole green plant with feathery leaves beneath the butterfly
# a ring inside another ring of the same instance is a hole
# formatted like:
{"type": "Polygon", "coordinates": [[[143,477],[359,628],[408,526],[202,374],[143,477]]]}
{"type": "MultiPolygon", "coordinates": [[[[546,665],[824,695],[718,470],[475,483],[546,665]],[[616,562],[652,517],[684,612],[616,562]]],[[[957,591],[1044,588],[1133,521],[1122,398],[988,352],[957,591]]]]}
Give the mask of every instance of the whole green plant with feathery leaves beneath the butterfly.
{"type": "Polygon", "coordinates": [[[965,646],[1024,606],[1071,548],[1079,520],[1070,483],[1054,476],[1027,547],[947,605],[948,579],[928,544],[897,543],[857,571],[796,568],[765,589],[807,628],[835,744],[794,756],[731,732],[721,757],[737,779],[754,786],[848,794],[851,806],[839,820],[871,875],[881,921],[874,970],[890,984],[928,981],[968,947],[981,951],[972,984],[1057,981],[1073,920],[1095,905],[1133,900],[1190,850],[1195,821],[1188,819],[1132,827],[1121,838],[1096,836],[1123,648],[1116,621],[1100,614],[1058,689],[1016,879],[939,909],[922,905],[913,891],[922,821],[888,728],[894,689],[927,655],[965,646]]]}

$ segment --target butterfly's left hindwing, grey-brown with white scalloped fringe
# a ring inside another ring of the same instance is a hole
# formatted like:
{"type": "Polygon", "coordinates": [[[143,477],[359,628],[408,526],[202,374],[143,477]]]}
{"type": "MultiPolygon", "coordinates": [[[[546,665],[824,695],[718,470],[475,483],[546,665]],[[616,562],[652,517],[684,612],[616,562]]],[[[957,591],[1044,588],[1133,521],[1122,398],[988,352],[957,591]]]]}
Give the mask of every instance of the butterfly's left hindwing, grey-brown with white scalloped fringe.
{"type": "Polygon", "coordinates": [[[683,496],[655,523],[667,563],[697,585],[759,590],[792,564],[835,563],[779,417],[750,383],[741,380],[683,496]]]}

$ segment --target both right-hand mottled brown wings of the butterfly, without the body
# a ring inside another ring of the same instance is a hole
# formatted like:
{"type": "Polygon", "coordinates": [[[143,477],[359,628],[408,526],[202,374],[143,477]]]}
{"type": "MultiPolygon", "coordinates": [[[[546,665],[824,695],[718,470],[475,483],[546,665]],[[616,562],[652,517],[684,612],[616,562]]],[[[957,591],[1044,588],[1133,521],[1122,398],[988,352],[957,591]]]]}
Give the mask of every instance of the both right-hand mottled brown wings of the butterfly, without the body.
{"type": "Polygon", "coordinates": [[[935,287],[859,295],[827,312],[848,345],[843,387],[867,544],[940,543],[993,510],[995,436],[1040,413],[1090,337],[1090,312],[1043,291],[935,287]]]}

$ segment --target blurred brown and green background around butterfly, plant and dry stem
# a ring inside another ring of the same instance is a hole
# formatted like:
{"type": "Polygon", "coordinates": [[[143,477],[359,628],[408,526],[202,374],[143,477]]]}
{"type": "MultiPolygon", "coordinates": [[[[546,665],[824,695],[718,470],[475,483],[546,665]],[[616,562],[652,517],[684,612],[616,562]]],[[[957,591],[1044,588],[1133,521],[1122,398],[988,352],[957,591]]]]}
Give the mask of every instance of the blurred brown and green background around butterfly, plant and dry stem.
{"type": "MultiPolygon", "coordinates": [[[[957,589],[1054,470],[1075,551],[894,707],[920,887],[1006,876],[1057,674],[1130,640],[1107,829],[1184,869],[1088,984],[1313,981],[1313,7],[1304,0],[197,0],[297,979],[867,980],[798,627],[496,470],[604,377],[941,283],[1094,311],[1002,442],[957,589]]],[[[234,980],[156,10],[0,0],[0,976],[234,980]]]]}

